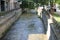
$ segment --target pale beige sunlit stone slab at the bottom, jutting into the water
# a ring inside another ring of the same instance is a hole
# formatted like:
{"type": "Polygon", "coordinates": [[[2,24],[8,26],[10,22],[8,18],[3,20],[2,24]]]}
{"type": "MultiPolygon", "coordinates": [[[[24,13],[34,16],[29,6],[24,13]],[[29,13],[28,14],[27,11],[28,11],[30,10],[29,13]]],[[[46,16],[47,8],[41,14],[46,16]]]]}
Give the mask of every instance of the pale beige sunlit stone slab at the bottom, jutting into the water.
{"type": "Polygon", "coordinates": [[[46,34],[30,34],[28,40],[48,40],[46,34]]]}

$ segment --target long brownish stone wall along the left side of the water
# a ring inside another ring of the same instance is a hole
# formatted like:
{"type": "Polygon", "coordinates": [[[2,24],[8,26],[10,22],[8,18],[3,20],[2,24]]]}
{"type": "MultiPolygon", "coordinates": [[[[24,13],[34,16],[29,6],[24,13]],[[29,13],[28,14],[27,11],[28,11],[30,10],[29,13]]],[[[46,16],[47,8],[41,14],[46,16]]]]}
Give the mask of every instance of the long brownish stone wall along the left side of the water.
{"type": "Polygon", "coordinates": [[[15,10],[8,17],[5,16],[0,21],[0,38],[4,35],[4,33],[11,27],[11,25],[20,17],[21,9],[15,10]]]}

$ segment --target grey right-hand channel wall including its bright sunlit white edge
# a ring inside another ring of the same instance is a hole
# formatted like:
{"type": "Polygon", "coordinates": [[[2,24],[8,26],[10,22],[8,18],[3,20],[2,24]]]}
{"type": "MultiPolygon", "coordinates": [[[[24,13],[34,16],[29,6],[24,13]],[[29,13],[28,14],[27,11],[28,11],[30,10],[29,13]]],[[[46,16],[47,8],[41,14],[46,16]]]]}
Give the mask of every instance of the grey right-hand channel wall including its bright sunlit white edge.
{"type": "MultiPolygon", "coordinates": [[[[50,15],[50,14],[49,14],[50,15]]],[[[58,40],[57,39],[57,36],[54,32],[54,29],[53,28],[53,21],[51,18],[49,18],[48,15],[46,15],[46,12],[45,13],[42,13],[42,20],[43,20],[43,23],[44,23],[44,27],[45,27],[45,32],[48,36],[48,40],[58,40]]]]}

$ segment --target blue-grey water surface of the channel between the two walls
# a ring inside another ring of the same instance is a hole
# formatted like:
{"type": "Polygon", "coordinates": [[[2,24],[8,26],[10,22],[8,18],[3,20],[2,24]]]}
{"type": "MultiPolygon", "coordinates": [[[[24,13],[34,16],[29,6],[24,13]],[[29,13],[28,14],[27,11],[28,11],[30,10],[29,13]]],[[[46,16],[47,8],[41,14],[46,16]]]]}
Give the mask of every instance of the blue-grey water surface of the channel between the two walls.
{"type": "Polygon", "coordinates": [[[44,34],[43,23],[37,15],[23,14],[2,40],[28,40],[30,34],[44,34]]]}

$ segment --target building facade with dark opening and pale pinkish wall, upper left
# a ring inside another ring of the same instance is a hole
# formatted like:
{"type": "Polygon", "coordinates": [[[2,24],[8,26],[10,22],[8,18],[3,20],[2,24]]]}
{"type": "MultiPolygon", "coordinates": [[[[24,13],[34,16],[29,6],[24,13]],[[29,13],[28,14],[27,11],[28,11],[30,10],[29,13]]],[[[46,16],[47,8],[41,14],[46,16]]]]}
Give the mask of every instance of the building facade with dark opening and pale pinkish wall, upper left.
{"type": "Polygon", "coordinates": [[[17,0],[0,0],[0,12],[8,11],[19,7],[17,0]]]}

